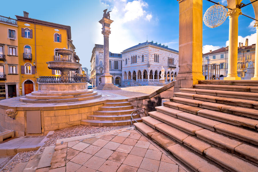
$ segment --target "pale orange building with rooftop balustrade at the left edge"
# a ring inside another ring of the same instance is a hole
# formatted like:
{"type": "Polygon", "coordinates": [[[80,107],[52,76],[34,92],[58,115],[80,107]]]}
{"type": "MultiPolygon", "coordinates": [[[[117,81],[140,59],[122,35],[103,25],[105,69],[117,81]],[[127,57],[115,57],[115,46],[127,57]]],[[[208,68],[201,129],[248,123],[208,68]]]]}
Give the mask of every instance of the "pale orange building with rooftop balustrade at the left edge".
{"type": "Polygon", "coordinates": [[[0,100],[19,95],[17,21],[0,16],[0,100]]]}

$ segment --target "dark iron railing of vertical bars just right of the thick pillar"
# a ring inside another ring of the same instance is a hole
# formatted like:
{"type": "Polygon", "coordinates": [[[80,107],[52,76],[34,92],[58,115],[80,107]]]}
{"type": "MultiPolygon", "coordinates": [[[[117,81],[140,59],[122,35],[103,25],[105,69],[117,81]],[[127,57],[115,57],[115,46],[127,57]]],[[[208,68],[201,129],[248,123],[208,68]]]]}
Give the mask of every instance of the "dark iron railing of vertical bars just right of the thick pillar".
{"type": "Polygon", "coordinates": [[[206,80],[220,79],[220,65],[219,64],[204,64],[202,65],[204,77],[206,80]]]}

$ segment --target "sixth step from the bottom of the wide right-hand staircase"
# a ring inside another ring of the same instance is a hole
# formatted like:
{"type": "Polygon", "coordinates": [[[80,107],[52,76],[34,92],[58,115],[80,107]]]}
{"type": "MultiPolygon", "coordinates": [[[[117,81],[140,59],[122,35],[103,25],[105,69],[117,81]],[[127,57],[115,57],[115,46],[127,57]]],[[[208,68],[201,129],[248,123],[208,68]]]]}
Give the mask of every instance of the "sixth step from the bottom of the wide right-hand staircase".
{"type": "Polygon", "coordinates": [[[212,102],[200,101],[195,99],[187,99],[182,97],[171,97],[170,100],[176,103],[187,104],[187,105],[196,106],[196,107],[199,106],[200,108],[205,108],[209,110],[216,110],[219,112],[225,112],[229,114],[258,119],[258,110],[256,109],[230,106],[230,105],[225,105],[221,103],[212,103],[212,102]]]}

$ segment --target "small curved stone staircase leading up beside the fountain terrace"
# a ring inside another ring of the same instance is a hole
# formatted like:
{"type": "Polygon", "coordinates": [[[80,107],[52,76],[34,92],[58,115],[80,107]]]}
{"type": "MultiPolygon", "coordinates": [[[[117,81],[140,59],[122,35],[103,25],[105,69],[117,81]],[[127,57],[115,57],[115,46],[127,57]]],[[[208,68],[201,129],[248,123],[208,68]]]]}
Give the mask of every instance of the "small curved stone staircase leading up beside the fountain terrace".
{"type": "MultiPolygon", "coordinates": [[[[82,125],[91,126],[118,126],[131,124],[131,113],[134,107],[130,105],[127,99],[122,100],[107,100],[99,110],[93,115],[88,116],[86,120],[82,120],[82,125]]],[[[135,116],[134,119],[141,122],[140,116],[135,116]]]]}

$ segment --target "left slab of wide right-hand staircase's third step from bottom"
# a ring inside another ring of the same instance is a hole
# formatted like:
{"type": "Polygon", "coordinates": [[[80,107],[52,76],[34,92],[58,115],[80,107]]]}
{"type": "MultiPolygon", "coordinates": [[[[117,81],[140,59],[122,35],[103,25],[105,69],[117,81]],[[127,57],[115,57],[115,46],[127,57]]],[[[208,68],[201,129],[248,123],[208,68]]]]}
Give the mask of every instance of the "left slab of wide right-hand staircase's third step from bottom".
{"type": "Polygon", "coordinates": [[[180,120],[178,118],[174,118],[172,116],[168,116],[166,114],[163,114],[161,112],[149,112],[148,113],[151,117],[162,121],[170,126],[173,126],[179,130],[182,130],[188,134],[195,135],[195,132],[198,130],[202,130],[203,128],[194,124],[191,124],[189,122],[185,122],[183,120],[180,120]]]}

